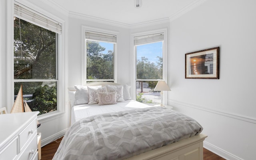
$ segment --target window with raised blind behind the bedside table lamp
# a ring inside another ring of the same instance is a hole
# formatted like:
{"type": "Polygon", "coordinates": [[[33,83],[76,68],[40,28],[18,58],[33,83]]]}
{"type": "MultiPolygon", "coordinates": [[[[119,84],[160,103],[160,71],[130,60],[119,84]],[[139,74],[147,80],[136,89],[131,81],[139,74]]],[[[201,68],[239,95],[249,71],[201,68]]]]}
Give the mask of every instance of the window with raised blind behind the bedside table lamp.
{"type": "Polygon", "coordinates": [[[163,80],[164,33],[134,37],[136,52],[136,100],[148,105],[160,103],[154,88],[163,80]]]}

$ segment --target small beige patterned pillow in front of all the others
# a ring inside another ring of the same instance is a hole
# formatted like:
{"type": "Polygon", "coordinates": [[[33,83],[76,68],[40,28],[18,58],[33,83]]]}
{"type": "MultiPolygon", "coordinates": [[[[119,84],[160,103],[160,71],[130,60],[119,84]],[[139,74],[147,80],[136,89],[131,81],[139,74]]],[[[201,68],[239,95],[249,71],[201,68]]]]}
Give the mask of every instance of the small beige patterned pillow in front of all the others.
{"type": "Polygon", "coordinates": [[[98,93],[99,105],[105,104],[116,104],[116,92],[108,93],[108,92],[99,92],[98,93]]]}

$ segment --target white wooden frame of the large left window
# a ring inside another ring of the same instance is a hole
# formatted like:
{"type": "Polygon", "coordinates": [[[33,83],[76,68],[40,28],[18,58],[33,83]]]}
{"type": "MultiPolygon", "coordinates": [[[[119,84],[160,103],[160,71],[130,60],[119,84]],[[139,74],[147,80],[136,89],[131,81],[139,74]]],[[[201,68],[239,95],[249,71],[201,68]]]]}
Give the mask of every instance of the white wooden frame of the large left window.
{"type": "MultiPolygon", "coordinates": [[[[13,44],[13,40],[14,40],[14,3],[20,3],[23,6],[26,6],[28,8],[31,8],[32,10],[34,10],[35,13],[39,13],[42,14],[52,20],[56,20],[57,22],[60,22],[62,24],[62,34],[57,34],[58,35],[58,40],[57,40],[57,47],[56,48],[58,50],[58,75],[56,75],[57,79],[57,110],[53,111],[53,112],[49,112],[46,114],[42,114],[38,116],[38,120],[46,120],[48,118],[55,118],[56,115],[58,114],[62,114],[63,112],[65,112],[65,84],[64,84],[64,77],[65,77],[65,68],[64,68],[64,61],[65,61],[65,53],[64,53],[64,30],[65,30],[65,21],[54,16],[53,14],[50,14],[49,12],[46,12],[45,10],[43,10],[42,8],[24,1],[24,0],[10,0],[7,3],[7,7],[8,7],[8,13],[7,13],[7,52],[8,52],[8,56],[7,56],[7,94],[8,94],[8,100],[7,100],[7,104],[8,104],[8,110],[10,111],[13,104],[14,104],[14,82],[25,82],[25,80],[14,80],[14,54],[13,54],[13,48],[14,48],[14,44],[13,44]]],[[[35,81],[35,80],[26,80],[26,82],[30,82],[30,81],[35,81]]],[[[48,80],[40,80],[41,81],[48,81],[48,80]]],[[[42,122],[42,121],[41,121],[42,122]]]]}

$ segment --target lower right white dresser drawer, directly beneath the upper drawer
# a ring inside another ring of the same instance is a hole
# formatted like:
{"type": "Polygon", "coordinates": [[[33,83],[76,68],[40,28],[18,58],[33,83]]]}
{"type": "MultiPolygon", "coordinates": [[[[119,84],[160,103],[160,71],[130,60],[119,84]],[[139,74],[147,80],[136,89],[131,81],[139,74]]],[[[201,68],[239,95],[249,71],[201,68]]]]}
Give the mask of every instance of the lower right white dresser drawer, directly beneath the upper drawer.
{"type": "Polygon", "coordinates": [[[37,153],[37,134],[33,134],[30,144],[20,153],[20,160],[32,160],[37,153]]]}

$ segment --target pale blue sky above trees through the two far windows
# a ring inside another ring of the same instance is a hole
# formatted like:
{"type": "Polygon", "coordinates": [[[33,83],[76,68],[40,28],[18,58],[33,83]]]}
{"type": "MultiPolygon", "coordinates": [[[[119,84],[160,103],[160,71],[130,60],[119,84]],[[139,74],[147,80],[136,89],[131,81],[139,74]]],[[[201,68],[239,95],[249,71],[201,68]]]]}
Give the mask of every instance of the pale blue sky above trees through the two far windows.
{"type": "MultiPolygon", "coordinates": [[[[113,50],[112,43],[99,42],[100,46],[105,47],[106,50],[103,51],[104,54],[108,53],[108,50],[113,50]]],[[[148,58],[150,62],[156,63],[158,61],[157,56],[162,57],[162,42],[156,42],[151,44],[144,44],[137,46],[137,58],[141,60],[144,56],[148,58]]]]}

